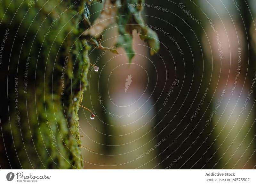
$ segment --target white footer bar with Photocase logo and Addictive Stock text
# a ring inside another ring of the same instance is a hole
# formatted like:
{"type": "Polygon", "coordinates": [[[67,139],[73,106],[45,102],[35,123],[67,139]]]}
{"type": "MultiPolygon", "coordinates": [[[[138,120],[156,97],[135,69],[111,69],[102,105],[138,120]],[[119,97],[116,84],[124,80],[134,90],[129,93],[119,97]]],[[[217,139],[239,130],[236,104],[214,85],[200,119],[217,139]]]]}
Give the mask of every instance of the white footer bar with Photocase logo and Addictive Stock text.
{"type": "Polygon", "coordinates": [[[0,170],[0,184],[256,184],[256,170],[0,170]]]}

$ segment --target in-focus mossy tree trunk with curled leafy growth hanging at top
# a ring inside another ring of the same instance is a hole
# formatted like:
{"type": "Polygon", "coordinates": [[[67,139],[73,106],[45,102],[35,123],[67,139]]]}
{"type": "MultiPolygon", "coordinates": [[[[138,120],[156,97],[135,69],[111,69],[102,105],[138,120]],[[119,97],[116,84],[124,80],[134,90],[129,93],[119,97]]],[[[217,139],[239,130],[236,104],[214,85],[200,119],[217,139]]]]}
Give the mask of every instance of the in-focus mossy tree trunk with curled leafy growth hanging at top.
{"type": "Polygon", "coordinates": [[[139,16],[141,7],[127,6],[142,0],[104,1],[109,11],[103,10],[98,22],[107,21],[87,32],[85,3],[93,2],[101,0],[0,2],[1,168],[83,168],[77,111],[87,85],[88,51],[108,49],[95,30],[118,23],[124,34],[118,42],[132,44],[129,33],[137,29],[159,49],[156,33],[139,16]]]}

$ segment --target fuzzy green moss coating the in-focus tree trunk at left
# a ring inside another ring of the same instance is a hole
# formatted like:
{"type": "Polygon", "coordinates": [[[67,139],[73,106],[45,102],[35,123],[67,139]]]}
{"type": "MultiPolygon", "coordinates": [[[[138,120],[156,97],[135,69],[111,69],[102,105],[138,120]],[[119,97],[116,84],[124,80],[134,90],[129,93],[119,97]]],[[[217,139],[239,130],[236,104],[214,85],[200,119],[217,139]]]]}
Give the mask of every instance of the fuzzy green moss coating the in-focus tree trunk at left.
{"type": "MultiPolygon", "coordinates": [[[[84,1],[77,1],[72,7],[69,5],[75,1],[71,0],[62,3],[49,1],[46,4],[37,1],[32,7],[28,6],[28,2],[25,1],[21,6],[19,3],[9,6],[9,1],[4,1],[0,7],[2,27],[17,32],[18,44],[13,46],[14,51],[20,50],[20,44],[26,37],[18,71],[21,123],[17,126],[16,112],[12,109],[11,127],[6,125],[5,130],[15,138],[12,149],[17,151],[16,162],[20,163],[20,167],[81,169],[83,161],[77,115],[79,101],[74,102],[73,99],[81,99],[88,83],[88,60],[85,58],[90,47],[83,47],[83,41],[76,36],[79,32],[77,23],[83,19],[81,14],[76,13],[84,6],[84,1]],[[4,15],[2,12],[6,9],[4,15]],[[16,11],[9,26],[10,18],[16,11]],[[29,85],[25,94],[22,69],[28,56],[29,85]],[[64,95],[61,95],[61,75],[66,56],[68,63],[63,78],[65,89],[64,95]]],[[[17,53],[13,53],[13,64],[17,64],[17,57],[17,53]]],[[[15,70],[13,67],[10,72],[15,74],[15,70]]],[[[14,103],[11,103],[13,108],[14,103]]]]}

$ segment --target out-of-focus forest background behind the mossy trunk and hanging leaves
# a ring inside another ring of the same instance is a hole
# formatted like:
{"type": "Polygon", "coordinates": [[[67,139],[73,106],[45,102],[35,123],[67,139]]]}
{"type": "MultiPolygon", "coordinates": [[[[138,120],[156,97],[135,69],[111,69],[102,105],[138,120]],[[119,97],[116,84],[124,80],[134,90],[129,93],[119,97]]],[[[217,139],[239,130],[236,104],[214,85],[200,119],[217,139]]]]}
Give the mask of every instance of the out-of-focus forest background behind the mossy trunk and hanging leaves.
{"type": "MultiPolygon", "coordinates": [[[[88,5],[90,22],[102,7],[88,5]]],[[[129,62],[116,45],[117,24],[107,27],[101,45],[119,54],[88,51],[100,69],[89,67],[81,103],[95,118],[86,109],[78,112],[84,169],[256,169],[256,1],[146,0],[142,7],[141,17],[160,42],[154,56],[133,30],[135,56],[129,62]]],[[[3,125],[9,119],[3,106],[0,111],[3,125]]],[[[10,168],[16,150],[5,143],[0,152],[1,168],[10,168]]]]}

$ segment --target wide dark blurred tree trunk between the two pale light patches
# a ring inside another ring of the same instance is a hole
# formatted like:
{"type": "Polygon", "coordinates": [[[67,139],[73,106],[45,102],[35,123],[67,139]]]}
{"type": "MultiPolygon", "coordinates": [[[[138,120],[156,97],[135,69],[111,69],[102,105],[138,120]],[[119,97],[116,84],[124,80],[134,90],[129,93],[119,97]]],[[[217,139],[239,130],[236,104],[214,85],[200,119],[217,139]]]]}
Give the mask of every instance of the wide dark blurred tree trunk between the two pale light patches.
{"type": "MultiPolygon", "coordinates": [[[[155,2],[154,0],[149,2],[160,7],[163,6],[161,2],[155,2]]],[[[204,16],[201,10],[195,5],[198,5],[199,1],[180,2],[185,5],[185,10],[190,11],[190,13],[202,23],[204,22],[204,16]]],[[[202,159],[200,159],[200,157],[203,154],[205,156],[212,156],[215,150],[213,146],[209,147],[213,142],[213,138],[207,138],[208,131],[203,131],[207,119],[205,115],[209,115],[211,111],[209,108],[207,109],[207,106],[210,103],[210,97],[212,97],[212,89],[207,92],[201,109],[197,110],[198,114],[196,117],[192,121],[190,118],[195,113],[206,88],[209,88],[209,79],[212,69],[211,66],[209,66],[207,57],[202,48],[201,39],[204,32],[201,26],[204,26],[204,23],[199,25],[196,21],[193,21],[191,17],[178,7],[180,2],[173,3],[166,1],[164,7],[166,7],[169,12],[150,9],[150,12],[153,12],[152,15],[157,14],[158,17],[164,19],[164,21],[158,18],[148,18],[149,25],[159,27],[157,33],[160,41],[163,42],[159,54],[163,57],[164,64],[160,62],[161,59],[158,59],[159,62],[156,63],[157,70],[161,72],[159,73],[158,79],[156,79],[158,82],[156,90],[154,91],[155,100],[159,98],[164,88],[164,92],[161,96],[161,100],[164,101],[174,79],[179,79],[179,85],[175,91],[172,92],[172,97],[170,96],[166,106],[163,106],[162,101],[158,101],[159,103],[156,104],[157,110],[163,107],[156,115],[156,123],[159,123],[157,129],[158,132],[161,133],[158,135],[158,140],[164,137],[167,139],[166,142],[159,146],[159,153],[161,153],[160,161],[162,161],[162,169],[168,167],[168,165],[180,155],[182,158],[173,166],[170,165],[171,169],[199,169],[209,160],[207,157],[202,159]],[[165,31],[165,33],[160,30],[165,31]],[[183,53],[179,52],[174,41],[166,35],[167,33],[177,41],[183,53]],[[165,49],[165,46],[169,51],[165,49]],[[168,70],[167,76],[164,71],[165,65],[168,70]],[[167,79],[166,84],[165,78],[167,79]],[[170,136],[167,138],[169,134],[170,136]],[[207,152],[205,152],[205,148],[209,148],[207,152]]],[[[183,5],[181,5],[181,7],[183,5]]],[[[156,57],[157,56],[154,56],[153,60],[157,60],[156,57]]],[[[152,69],[152,71],[154,71],[154,69],[152,69]]],[[[155,82],[151,84],[155,84],[155,82]]],[[[152,89],[153,88],[154,87],[152,87],[152,89]]],[[[209,107],[211,107],[211,105],[209,107]]],[[[212,161],[214,160],[216,160],[215,156],[204,168],[211,168],[212,161]]]]}

